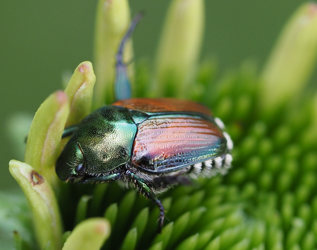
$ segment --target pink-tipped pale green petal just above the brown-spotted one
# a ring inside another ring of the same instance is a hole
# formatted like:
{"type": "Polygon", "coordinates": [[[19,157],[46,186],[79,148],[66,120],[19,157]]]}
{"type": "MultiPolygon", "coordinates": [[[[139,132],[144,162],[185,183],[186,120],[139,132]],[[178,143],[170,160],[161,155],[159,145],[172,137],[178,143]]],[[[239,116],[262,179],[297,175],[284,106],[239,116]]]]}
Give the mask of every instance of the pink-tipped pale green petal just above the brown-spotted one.
{"type": "Polygon", "coordinates": [[[55,162],[69,110],[68,97],[63,91],[51,94],[35,113],[27,139],[24,161],[54,188],[58,182],[55,162]]]}

